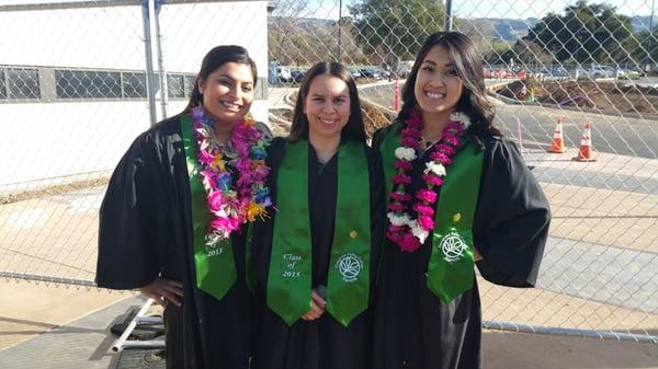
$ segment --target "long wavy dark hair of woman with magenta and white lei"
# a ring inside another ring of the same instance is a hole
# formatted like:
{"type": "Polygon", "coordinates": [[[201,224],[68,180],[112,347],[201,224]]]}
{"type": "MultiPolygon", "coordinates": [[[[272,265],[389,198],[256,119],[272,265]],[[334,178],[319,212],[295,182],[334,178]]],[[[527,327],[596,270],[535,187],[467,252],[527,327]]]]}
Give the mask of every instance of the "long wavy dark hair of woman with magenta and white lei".
{"type": "Polygon", "coordinates": [[[402,108],[398,118],[405,120],[409,117],[411,109],[418,106],[413,93],[418,70],[430,49],[436,45],[449,50],[455,72],[462,79],[464,90],[457,102],[456,111],[470,118],[470,127],[467,132],[481,149],[486,137],[491,135],[501,137],[502,134],[494,127],[495,111],[494,105],[487,100],[481,57],[470,38],[463,33],[436,32],[426,39],[402,88],[402,108]]]}

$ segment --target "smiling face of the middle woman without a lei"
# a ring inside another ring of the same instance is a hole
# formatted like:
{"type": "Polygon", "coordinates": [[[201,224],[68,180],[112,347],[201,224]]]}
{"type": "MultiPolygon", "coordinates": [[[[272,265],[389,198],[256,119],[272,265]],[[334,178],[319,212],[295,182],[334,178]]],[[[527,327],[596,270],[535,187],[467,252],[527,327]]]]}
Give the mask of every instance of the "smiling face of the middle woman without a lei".
{"type": "Polygon", "coordinates": [[[308,119],[308,136],[317,139],[340,139],[350,119],[350,90],[338,77],[319,74],[310,82],[304,100],[308,119]]]}

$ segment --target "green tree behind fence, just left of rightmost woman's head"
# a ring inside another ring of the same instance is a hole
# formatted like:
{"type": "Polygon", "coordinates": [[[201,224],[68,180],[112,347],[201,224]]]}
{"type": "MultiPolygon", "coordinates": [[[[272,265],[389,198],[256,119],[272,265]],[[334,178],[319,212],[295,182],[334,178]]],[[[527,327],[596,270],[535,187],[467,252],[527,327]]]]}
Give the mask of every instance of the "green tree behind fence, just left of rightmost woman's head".
{"type": "Polygon", "coordinates": [[[439,0],[363,0],[348,8],[361,48],[386,60],[413,59],[424,39],[443,30],[439,0]]]}

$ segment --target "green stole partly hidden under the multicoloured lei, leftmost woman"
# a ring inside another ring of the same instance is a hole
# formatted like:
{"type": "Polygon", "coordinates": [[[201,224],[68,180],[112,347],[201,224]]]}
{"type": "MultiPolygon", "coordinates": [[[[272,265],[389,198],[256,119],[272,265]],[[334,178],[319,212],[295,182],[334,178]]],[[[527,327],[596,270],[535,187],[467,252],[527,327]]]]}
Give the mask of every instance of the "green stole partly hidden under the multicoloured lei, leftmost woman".
{"type": "Polygon", "coordinates": [[[217,300],[222,300],[236,281],[236,261],[230,240],[223,240],[213,246],[206,245],[205,242],[212,215],[206,204],[206,192],[198,174],[198,147],[192,134],[192,125],[190,116],[181,116],[181,132],[183,134],[192,199],[192,239],[196,287],[217,300]]]}

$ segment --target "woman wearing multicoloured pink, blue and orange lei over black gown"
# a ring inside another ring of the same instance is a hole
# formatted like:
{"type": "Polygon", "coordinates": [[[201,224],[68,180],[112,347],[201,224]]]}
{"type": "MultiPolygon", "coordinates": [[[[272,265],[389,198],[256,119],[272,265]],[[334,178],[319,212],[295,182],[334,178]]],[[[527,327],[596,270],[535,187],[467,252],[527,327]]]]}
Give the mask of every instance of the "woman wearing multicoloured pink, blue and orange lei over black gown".
{"type": "Polygon", "coordinates": [[[236,170],[262,162],[271,138],[248,114],[256,81],[245,48],[208,51],[188,107],[137,137],[101,207],[97,282],[139,288],[164,305],[168,368],[249,367],[253,297],[245,277],[246,232],[238,229],[249,219],[227,201],[209,207],[206,196],[230,197],[242,180],[234,197],[249,200],[258,189],[261,205],[269,201],[266,187],[236,170]]]}

